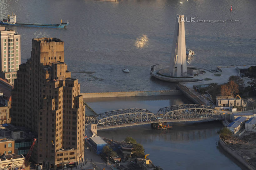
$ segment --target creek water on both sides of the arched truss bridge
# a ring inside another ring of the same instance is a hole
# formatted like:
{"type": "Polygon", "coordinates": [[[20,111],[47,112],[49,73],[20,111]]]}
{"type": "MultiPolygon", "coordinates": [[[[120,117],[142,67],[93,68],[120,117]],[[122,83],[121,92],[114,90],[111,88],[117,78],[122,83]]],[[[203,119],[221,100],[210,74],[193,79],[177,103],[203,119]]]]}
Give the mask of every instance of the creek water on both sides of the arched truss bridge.
{"type": "MultiPolygon", "coordinates": [[[[96,113],[123,108],[146,108],[156,113],[160,108],[171,105],[193,104],[183,95],[84,98],[96,113]]],[[[217,131],[223,128],[220,122],[173,123],[172,129],[157,131],[150,125],[100,130],[98,135],[124,140],[131,136],[143,144],[145,154],[157,166],[169,169],[247,169],[218,147],[217,131]],[[217,143],[216,143],[217,142],[217,143]]]]}

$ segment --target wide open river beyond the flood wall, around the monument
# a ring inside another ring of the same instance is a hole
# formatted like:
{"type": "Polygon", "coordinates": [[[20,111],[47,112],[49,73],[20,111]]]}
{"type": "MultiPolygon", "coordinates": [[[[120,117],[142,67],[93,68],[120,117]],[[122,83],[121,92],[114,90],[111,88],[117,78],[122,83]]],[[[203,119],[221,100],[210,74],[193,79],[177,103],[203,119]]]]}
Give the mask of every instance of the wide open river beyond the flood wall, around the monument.
{"type": "Polygon", "coordinates": [[[196,53],[190,65],[215,69],[256,64],[255,0],[1,0],[0,7],[1,19],[15,12],[17,22],[68,20],[65,29],[11,28],[21,34],[22,63],[30,58],[32,38],[62,39],[65,62],[79,78],[81,92],[174,88],[149,73],[152,65],[169,63],[177,14],[195,18],[185,23],[186,47],[196,53]],[[199,23],[198,19],[239,22],[199,23]],[[124,67],[130,73],[123,73],[124,67]]]}

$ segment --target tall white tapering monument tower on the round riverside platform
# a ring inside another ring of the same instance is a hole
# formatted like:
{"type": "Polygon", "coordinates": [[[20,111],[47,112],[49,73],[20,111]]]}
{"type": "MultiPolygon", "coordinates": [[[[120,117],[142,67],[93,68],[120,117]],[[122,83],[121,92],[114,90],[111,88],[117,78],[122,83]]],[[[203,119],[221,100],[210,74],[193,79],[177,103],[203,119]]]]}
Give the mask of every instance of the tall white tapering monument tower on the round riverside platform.
{"type": "Polygon", "coordinates": [[[173,47],[169,67],[170,76],[187,77],[184,15],[178,15],[173,35],[173,47]]]}

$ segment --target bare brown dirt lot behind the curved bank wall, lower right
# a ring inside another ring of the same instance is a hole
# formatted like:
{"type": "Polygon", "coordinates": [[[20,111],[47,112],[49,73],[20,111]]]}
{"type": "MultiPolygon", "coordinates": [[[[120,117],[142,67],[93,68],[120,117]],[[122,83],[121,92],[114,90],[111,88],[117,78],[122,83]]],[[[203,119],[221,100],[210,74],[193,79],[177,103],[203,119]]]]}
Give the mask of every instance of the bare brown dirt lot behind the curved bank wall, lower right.
{"type": "Polygon", "coordinates": [[[225,139],[225,142],[246,162],[256,167],[256,133],[245,132],[240,137],[232,136],[225,139]]]}

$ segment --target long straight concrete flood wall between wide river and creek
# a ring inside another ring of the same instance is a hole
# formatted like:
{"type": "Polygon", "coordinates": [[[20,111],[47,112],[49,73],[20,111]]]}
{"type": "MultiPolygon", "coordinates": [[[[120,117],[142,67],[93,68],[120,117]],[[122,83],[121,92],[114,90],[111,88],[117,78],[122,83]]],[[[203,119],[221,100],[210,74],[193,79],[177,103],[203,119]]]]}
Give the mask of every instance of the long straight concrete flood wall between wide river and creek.
{"type": "Polygon", "coordinates": [[[164,96],[182,95],[180,90],[159,91],[133,91],[133,92],[103,92],[103,93],[80,93],[83,98],[111,98],[111,97],[133,97],[133,96],[164,96]]]}

